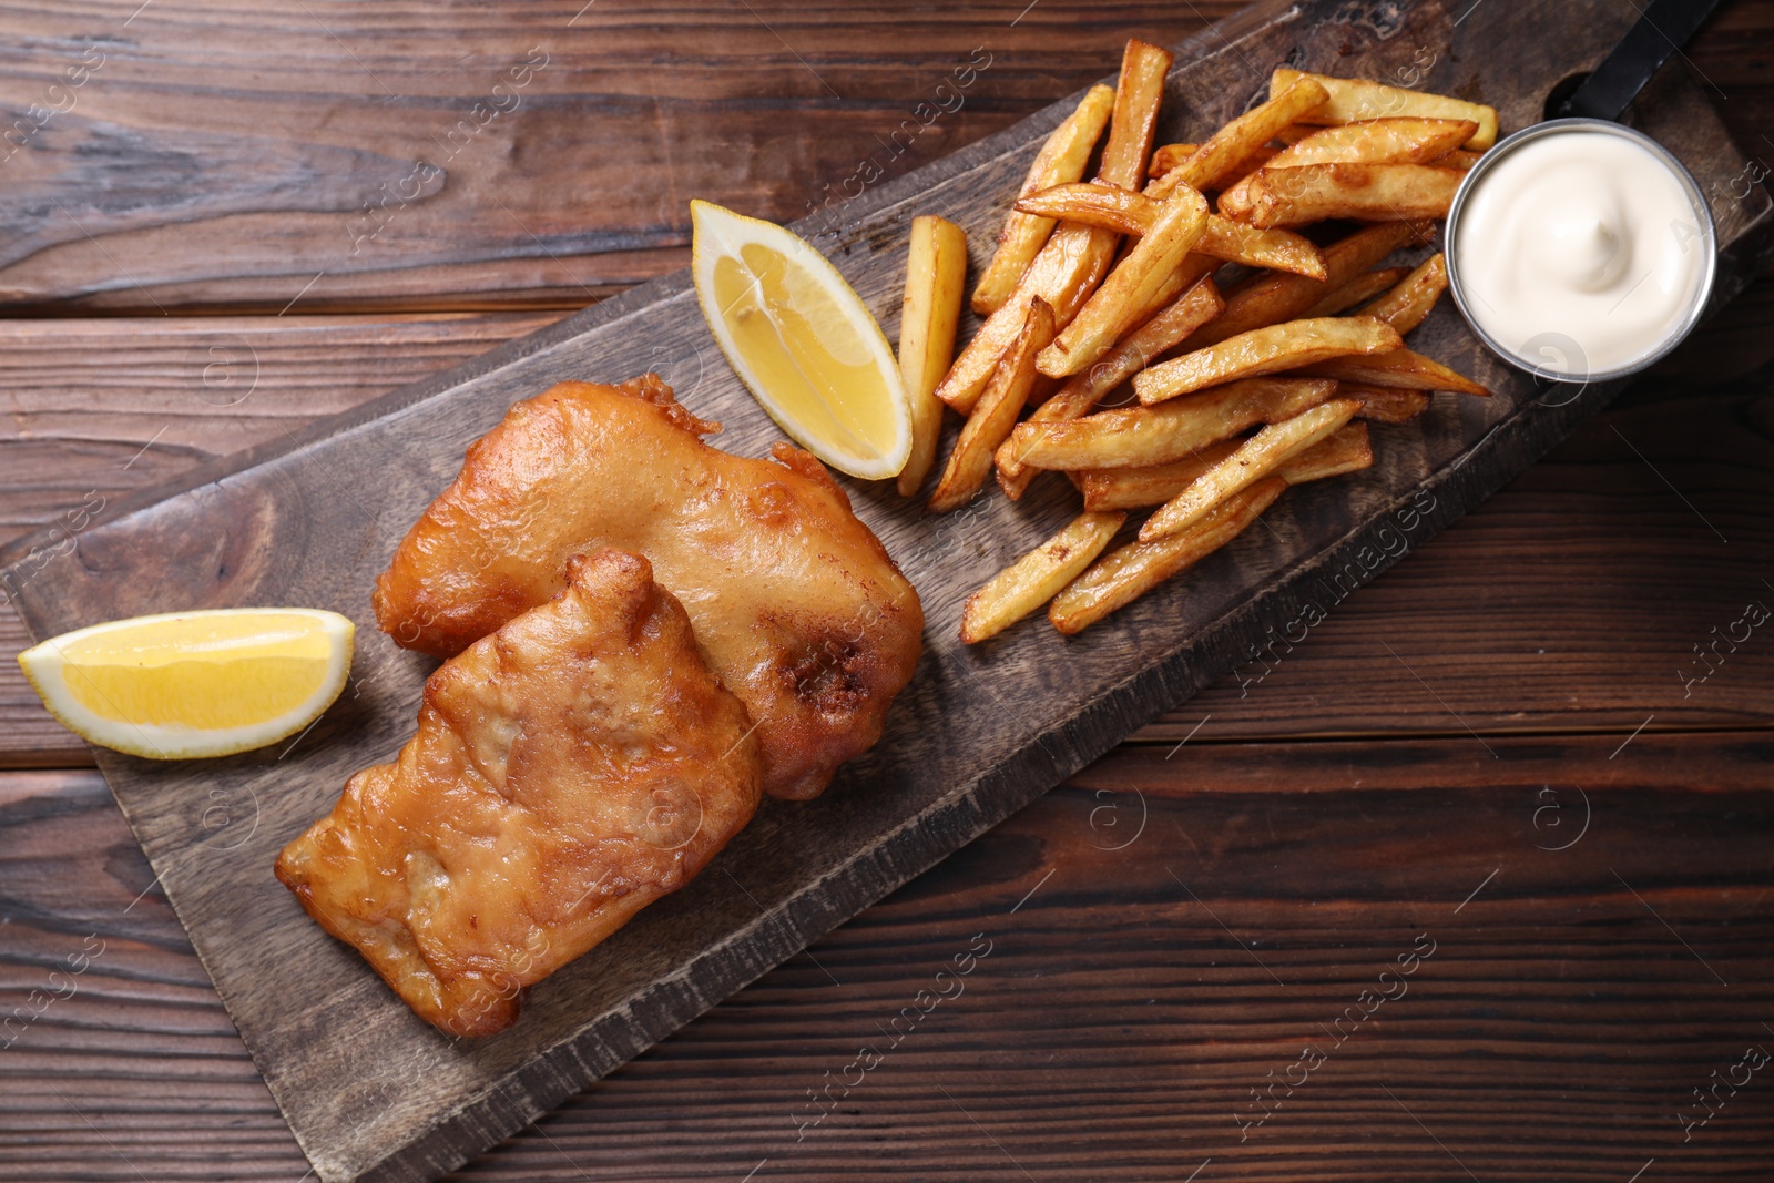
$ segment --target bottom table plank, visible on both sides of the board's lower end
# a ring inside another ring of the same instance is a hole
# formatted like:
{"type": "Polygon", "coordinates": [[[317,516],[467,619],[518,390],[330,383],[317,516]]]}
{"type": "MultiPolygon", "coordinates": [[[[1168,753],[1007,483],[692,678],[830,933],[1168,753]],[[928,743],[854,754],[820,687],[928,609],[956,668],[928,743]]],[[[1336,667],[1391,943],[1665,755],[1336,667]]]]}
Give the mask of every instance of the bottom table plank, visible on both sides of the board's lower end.
{"type": "MultiPolygon", "coordinates": [[[[1487,1183],[1758,1178],[1760,1075],[1687,1144],[1676,1116],[1774,1046],[1774,745],[1497,745],[1123,747],[459,1178],[1465,1178],[1410,1116],[1487,1183]],[[802,1132],[974,933],[962,993],[802,1132]],[[1409,993],[1240,1144],[1249,1089],[1419,933],[1409,993]]],[[[131,906],[153,873],[103,782],[9,773],[0,818],[0,1015],[105,942],[0,1052],[0,1179],[302,1176],[165,897],[131,906]]]]}

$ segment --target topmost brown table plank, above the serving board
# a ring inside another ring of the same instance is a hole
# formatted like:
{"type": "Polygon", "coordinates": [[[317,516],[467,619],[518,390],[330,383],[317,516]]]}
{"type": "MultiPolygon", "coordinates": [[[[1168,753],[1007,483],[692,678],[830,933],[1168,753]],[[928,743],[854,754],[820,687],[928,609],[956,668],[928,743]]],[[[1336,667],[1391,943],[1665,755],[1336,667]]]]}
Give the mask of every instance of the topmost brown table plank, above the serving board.
{"type": "Polygon", "coordinates": [[[800,216],[1238,5],[1025,7],[14,5],[11,110],[99,66],[4,165],[0,307],[580,307],[683,266],[690,197],[800,216]]]}

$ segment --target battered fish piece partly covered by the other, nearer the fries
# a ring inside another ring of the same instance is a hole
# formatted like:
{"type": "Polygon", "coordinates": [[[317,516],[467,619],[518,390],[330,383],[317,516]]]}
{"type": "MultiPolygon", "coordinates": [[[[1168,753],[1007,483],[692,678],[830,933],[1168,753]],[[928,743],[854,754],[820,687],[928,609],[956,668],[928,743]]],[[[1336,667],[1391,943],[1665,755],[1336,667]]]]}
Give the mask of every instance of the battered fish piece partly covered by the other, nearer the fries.
{"type": "Polygon", "coordinates": [[[376,580],[383,631],[449,656],[561,591],[568,555],[642,553],[757,724],[765,791],[818,796],[880,738],[924,610],[818,459],[731,456],[718,429],[656,374],[514,404],[376,580]]]}

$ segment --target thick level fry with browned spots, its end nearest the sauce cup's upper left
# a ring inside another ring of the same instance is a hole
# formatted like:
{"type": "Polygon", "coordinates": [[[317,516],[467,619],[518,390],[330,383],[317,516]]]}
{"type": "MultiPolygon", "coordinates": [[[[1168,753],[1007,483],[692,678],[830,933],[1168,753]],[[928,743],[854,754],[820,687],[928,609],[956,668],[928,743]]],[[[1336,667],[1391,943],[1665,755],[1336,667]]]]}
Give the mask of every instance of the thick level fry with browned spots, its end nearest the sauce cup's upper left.
{"type": "MultiPolygon", "coordinates": [[[[1249,209],[1236,220],[1267,229],[1327,218],[1446,218],[1462,176],[1465,174],[1430,165],[1263,168],[1251,177],[1249,209]]],[[[1233,216],[1224,206],[1221,215],[1233,216]]]]}

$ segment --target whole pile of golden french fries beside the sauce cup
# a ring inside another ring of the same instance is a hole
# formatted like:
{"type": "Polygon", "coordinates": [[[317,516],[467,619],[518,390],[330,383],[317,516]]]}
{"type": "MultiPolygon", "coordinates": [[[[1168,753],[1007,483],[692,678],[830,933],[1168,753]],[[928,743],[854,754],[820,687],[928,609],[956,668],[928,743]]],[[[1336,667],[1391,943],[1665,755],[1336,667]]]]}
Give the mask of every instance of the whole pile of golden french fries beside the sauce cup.
{"type": "Polygon", "coordinates": [[[1043,605],[1077,633],[1224,546],[1290,484],[1368,468],[1370,420],[1405,422],[1435,390],[1488,394],[1405,348],[1448,286],[1442,255],[1382,264],[1428,245],[1497,112],[1277,69],[1265,103],[1201,144],[1153,149],[1169,67],[1166,50],[1128,41],[1118,85],[1093,87],[1048,135],[960,355],[965,234],[912,223],[899,493],[935,466],[947,406],[967,422],[931,513],[993,474],[1011,498],[1041,472],[1084,495],[1082,514],[972,596],[969,644],[1043,605]],[[1299,232],[1327,220],[1362,225],[1325,245],[1299,232]],[[1146,509],[1137,537],[1109,550],[1146,509]]]}

